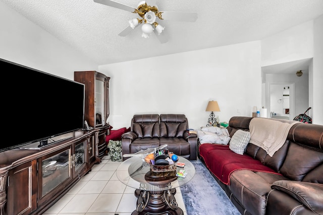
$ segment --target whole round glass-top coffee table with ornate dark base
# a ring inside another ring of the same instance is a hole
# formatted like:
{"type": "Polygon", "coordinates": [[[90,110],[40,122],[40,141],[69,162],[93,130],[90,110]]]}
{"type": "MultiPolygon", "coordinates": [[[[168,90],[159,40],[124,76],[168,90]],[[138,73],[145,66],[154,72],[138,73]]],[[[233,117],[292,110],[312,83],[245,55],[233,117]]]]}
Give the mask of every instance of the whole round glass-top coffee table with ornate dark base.
{"type": "Polygon", "coordinates": [[[125,185],[135,188],[137,199],[136,210],[132,215],[183,215],[174,195],[176,188],[189,182],[195,175],[193,164],[186,158],[178,156],[177,162],[185,163],[170,172],[152,172],[150,165],[141,157],[130,157],[118,167],[117,178],[125,185]],[[185,170],[185,178],[176,173],[185,170]]]}

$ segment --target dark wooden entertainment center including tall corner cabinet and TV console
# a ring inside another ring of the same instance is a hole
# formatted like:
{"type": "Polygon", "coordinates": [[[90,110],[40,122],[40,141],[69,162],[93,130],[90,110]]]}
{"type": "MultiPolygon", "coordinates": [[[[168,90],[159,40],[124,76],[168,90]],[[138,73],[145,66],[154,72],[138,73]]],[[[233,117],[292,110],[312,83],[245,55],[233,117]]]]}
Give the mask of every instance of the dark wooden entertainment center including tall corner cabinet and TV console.
{"type": "Polygon", "coordinates": [[[34,142],[0,152],[0,215],[45,212],[106,154],[110,77],[96,71],[74,74],[85,84],[84,120],[90,129],[49,138],[52,143],[41,147],[34,142]]]}

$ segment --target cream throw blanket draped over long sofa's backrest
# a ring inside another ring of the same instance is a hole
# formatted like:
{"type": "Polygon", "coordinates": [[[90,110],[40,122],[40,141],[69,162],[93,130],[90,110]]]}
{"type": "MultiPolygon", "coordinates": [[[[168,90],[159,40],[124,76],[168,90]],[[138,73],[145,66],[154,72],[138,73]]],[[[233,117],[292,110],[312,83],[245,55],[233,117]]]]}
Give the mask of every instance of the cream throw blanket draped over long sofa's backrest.
{"type": "Polygon", "coordinates": [[[264,149],[271,157],[280,149],[290,128],[298,121],[252,118],[249,124],[250,143],[264,149]]]}

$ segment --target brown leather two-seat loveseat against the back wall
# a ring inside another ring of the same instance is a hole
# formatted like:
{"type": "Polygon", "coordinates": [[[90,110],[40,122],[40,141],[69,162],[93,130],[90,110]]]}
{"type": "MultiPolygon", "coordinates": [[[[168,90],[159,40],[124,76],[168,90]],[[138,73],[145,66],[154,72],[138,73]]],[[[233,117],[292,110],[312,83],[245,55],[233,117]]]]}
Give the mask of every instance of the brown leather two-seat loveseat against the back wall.
{"type": "MultiPolygon", "coordinates": [[[[195,160],[197,135],[186,132],[188,120],[184,114],[140,114],[131,120],[130,132],[122,135],[122,154],[132,154],[167,144],[174,154],[195,160]]],[[[128,157],[123,157],[127,159],[128,157]]]]}

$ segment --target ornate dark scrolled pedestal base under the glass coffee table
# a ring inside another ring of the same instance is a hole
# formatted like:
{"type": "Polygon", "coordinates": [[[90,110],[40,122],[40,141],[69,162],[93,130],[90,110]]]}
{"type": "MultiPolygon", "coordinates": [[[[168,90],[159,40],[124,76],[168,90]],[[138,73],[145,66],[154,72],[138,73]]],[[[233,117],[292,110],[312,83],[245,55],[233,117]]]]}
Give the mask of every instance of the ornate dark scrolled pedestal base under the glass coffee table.
{"type": "Polygon", "coordinates": [[[137,209],[132,215],[183,215],[184,212],[178,207],[174,195],[176,189],[163,191],[146,191],[137,189],[137,209]]]}

